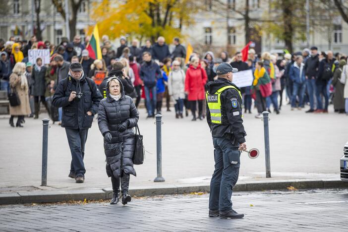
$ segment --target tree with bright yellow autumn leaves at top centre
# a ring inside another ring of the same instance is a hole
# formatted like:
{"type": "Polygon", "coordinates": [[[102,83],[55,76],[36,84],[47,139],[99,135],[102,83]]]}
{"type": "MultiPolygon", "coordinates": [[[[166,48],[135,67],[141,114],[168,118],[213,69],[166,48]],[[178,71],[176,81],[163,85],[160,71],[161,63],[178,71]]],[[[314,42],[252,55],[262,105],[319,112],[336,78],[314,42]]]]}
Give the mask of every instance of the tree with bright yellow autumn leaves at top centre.
{"type": "MultiPolygon", "coordinates": [[[[182,25],[194,23],[190,15],[197,12],[194,0],[103,0],[96,3],[92,18],[100,35],[111,39],[120,36],[167,41],[181,37],[182,25]]],[[[91,30],[90,30],[91,31],[91,30]]]]}

